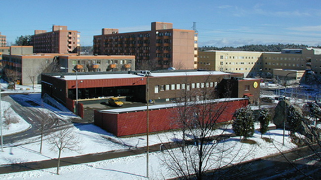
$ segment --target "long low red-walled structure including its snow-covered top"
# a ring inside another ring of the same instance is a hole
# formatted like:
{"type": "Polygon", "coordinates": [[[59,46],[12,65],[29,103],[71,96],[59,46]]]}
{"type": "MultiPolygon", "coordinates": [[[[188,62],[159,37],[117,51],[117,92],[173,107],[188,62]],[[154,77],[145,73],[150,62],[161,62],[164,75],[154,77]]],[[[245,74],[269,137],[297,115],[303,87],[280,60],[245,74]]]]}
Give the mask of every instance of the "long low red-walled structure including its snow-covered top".
{"type": "MultiPolygon", "coordinates": [[[[232,120],[236,109],[247,106],[248,99],[217,99],[208,102],[214,107],[224,106],[221,108],[221,113],[213,112],[212,115],[219,114],[216,122],[225,122],[232,120]]],[[[177,111],[177,104],[149,106],[149,131],[158,132],[181,128],[181,124],[175,121],[177,111]]],[[[146,107],[95,110],[94,114],[95,125],[117,137],[146,133],[146,107]]]]}

